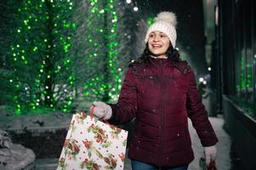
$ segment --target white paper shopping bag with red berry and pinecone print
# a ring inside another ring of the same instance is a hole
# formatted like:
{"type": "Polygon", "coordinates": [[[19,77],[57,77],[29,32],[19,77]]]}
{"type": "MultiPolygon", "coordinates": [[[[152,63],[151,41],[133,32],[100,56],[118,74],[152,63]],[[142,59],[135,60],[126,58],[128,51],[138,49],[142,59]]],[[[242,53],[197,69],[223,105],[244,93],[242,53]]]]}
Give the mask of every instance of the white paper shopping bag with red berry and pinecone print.
{"type": "Polygon", "coordinates": [[[122,170],[128,131],[82,111],[72,116],[57,170],[122,170]]]}

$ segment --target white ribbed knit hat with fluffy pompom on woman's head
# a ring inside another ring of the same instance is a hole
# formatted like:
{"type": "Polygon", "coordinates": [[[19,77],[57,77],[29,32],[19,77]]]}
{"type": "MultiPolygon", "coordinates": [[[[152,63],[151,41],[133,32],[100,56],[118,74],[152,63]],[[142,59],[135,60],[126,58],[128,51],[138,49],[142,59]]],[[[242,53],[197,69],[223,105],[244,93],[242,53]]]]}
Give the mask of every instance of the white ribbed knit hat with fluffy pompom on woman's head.
{"type": "Polygon", "coordinates": [[[148,42],[151,31],[162,31],[167,35],[170,42],[172,43],[173,48],[176,45],[176,15],[172,12],[161,12],[157,14],[155,22],[151,25],[145,35],[145,42],[148,42]]]}

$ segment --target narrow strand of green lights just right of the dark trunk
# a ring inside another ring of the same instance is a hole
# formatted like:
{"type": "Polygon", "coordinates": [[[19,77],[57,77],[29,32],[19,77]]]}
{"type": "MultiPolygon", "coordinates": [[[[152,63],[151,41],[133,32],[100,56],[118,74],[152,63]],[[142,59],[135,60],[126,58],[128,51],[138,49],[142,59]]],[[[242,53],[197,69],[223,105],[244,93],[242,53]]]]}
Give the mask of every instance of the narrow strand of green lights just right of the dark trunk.
{"type": "MultiPolygon", "coordinates": [[[[60,0],[61,2],[61,0],[60,0]]],[[[75,76],[72,74],[72,68],[71,68],[71,57],[70,56],[70,50],[71,50],[71,41],[72,41],[72,36],[74,35],[76,31],[76,24],[72,23],[70,20],[70,16],[68,14],[73,13],[73,6],[74,4],[71,2],[71,0],[67,0],[66,2],[63,1],[63,3],[57,3],[59,5],[59,13],[65,16],[65,20],[62,20],[60,17],[60,14],[57,15],[57,17],[54,20],[54,34],[57,40],[60,40],[59,47],[60,50],[60,61],[64,62],[61,65],[55,65],[57,67],[54,71],[54,74],[58,73],[63,73],[64,77],[61,77],[63,80],[67,80],[67,85],[64,87],[63,91],[65,93],[64,99],[61,99],[59,102],[59,107],[62,109],[63,112],[69,111],[69,109],[72,106],[72,101],[73,101],[73,91],[74,91],[74,81],[75,81],[75,76]],[[67,15],[65,15],[67,14],[67,15]],[[70,21],[67,21],[70,20],[70,21]],[[59,23],[58,23],[59,22],[59,23]],[[62,52],[62,53],[61,53],[62,52]],[[64,71],[61,71],[61,67],[64,68],[64,71]]],[[[62,82],[62,81],[61,81],[62,82]]],[[[61,83],[60,82],[60,83],[61,83]]],[[[62,84],[62,87],[64,84],[62,84]]],[[[57,97],[57,96],[54,96],[57,97]]],[[[57,106],[57,105],[55,105],[57,106]]]]}

